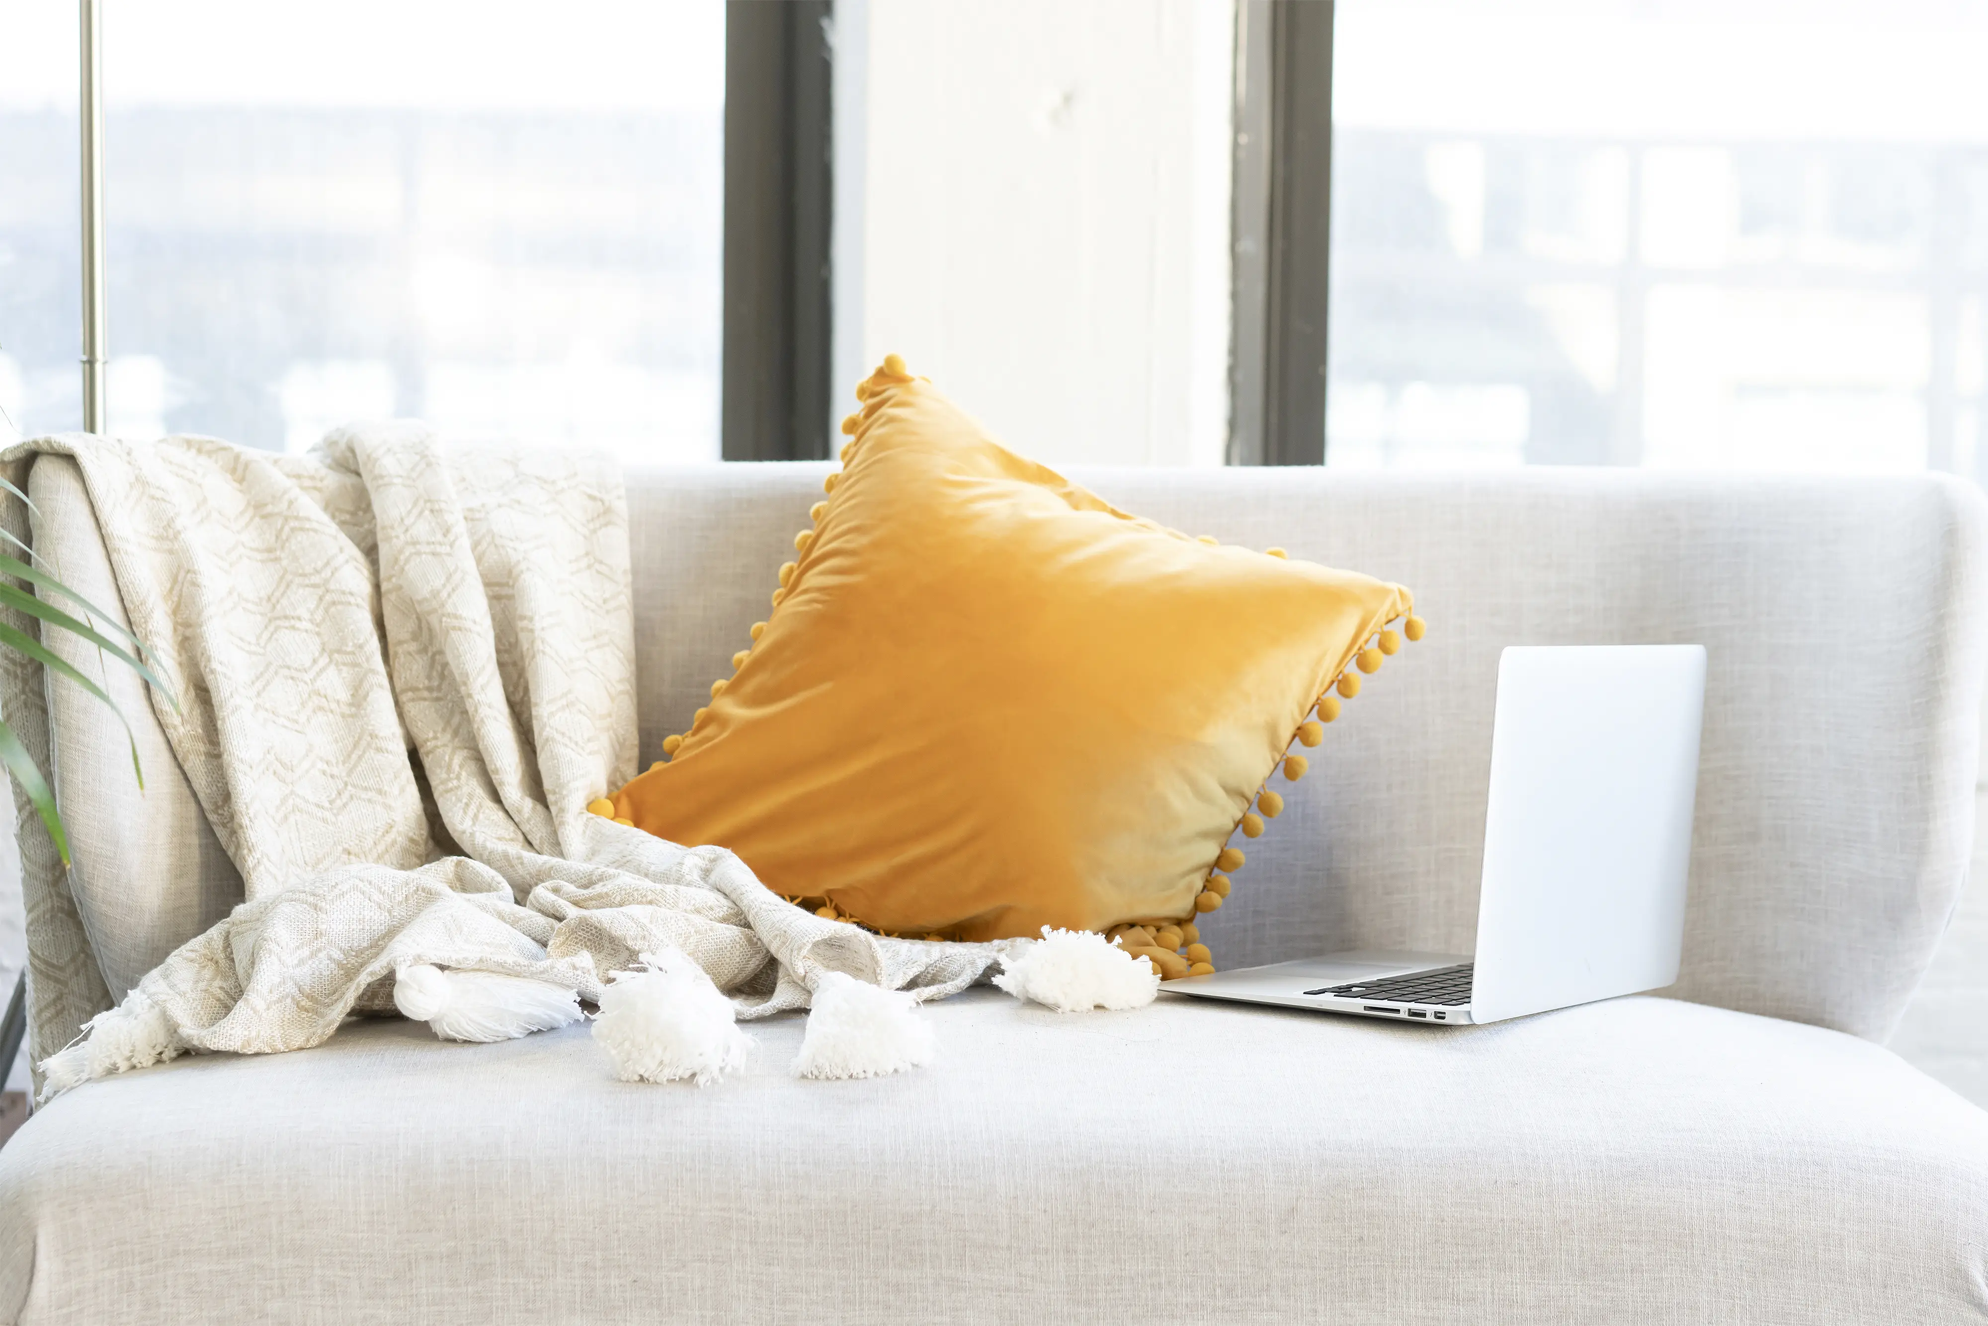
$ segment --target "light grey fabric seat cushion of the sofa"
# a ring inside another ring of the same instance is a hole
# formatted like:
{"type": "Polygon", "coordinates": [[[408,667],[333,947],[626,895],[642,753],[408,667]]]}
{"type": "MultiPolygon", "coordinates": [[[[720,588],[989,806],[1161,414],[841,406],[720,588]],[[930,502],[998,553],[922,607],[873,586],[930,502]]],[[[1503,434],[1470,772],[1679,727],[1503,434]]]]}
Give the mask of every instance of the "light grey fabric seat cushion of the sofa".
{"type": "Polygon", "coordinates": [[[712,1087],[584,1026],[354,1024],[95,1081],[0,1151],[20,1322],[1958,1322],[1988,1113],[1660,998],[1409,1028],[976,990],[940,1060],[712,1087]]]}

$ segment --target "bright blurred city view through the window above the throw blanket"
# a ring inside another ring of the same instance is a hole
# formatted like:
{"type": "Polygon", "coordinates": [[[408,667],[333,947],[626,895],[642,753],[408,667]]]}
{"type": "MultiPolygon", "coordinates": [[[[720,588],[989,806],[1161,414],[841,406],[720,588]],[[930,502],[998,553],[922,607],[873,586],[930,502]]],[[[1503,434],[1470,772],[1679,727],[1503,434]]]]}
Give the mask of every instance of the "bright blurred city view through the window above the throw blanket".
{"type": "MultiPolygon", "coordinates": [[[[109,431],[718,457],[722,0],[105,2],[109,431]]],[[[0,406],[80,427],[76,6],[0,0],[0,406]]],[[[6,427],[0,423],[0,427],[6,427]]]]}

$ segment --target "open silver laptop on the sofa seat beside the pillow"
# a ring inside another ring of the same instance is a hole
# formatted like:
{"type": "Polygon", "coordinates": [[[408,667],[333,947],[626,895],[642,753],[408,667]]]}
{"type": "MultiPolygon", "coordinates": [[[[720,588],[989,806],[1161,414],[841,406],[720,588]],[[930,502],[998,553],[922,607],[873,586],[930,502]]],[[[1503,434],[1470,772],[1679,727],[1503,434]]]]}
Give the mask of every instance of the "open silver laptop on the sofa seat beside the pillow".
{"type": "Polygon", "coordinates": [[[1678,978],[1700,644],[1507,648],[1477,952],[1334,952],[1161,984],[1396,1022],[1499,1022],[1678,978]]]}

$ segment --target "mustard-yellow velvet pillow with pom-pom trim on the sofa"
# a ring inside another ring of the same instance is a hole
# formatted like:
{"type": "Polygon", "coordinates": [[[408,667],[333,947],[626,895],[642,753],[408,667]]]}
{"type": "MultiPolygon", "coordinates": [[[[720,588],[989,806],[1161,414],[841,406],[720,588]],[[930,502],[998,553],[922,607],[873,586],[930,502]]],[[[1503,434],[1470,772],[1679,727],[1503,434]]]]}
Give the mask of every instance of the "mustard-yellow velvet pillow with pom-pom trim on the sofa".
{"type": "Polygon", "coordinates": [[[857,398],[736,674],[592,809],[887,934],[1052,924],[1207,964],[1229,839],[1282,809],[1266,781],[1400,648],[1409,592],[1115,511],[897,356],[857,398]]]}

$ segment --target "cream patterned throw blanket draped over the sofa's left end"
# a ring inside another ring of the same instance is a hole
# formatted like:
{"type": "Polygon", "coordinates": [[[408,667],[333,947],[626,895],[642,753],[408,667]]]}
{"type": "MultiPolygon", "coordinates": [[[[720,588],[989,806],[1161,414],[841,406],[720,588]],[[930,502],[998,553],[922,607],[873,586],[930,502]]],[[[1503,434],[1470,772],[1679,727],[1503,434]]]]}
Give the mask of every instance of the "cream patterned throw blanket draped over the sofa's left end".
{"type": "MultiPolygon", "coordinates": [[[[82,467],[131,628],[183,706],[153,710],[247,891],[93,1020],[52,1089],[185,1050],[314,1046],[392,1008],[394,972],[417,962],[598,1000],[608,972],[676,946],[744,1018],[805,1008],[827,972],[938,998],[994,962],[996,946],[815,916],[728,851],[586,813],[636,773],[610,463],[449,453],[398,423],[308,457],[44,437],[0,467],[26,489],[40,453],[82,467]]],[[[46,767],[42,686],[6,656],[0,704],[46,767]]],[[[50,956],[87,946],[60,861],[22,823],[38,1040],[56,1050],[50,1020],[76,1028],[109,1000],[93,970],[52,978],[50,956]]]]}

